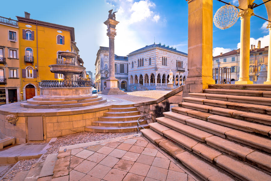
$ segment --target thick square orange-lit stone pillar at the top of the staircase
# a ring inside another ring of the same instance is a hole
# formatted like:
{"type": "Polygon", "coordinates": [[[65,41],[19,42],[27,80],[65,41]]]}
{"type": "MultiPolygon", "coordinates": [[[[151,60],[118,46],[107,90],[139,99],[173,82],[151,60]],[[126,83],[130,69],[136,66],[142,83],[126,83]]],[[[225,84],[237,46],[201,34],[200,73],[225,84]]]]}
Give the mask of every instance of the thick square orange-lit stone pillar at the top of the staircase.
{"type": "Polygon", "coordinates": [[[214,84],[213,0],[188,1],[188,76],[183,97],[214,84]]]}

